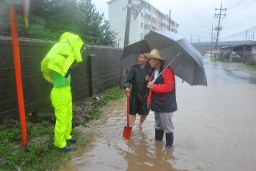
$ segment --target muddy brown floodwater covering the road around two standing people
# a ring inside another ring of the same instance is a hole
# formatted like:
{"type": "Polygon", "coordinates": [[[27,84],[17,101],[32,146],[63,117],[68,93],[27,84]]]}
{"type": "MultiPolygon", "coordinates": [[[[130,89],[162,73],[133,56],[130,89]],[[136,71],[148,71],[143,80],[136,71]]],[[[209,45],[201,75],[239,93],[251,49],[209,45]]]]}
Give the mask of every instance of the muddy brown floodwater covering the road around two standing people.
{"type": "Polygon", "coordinates": [[[177,78],[174,149],[154,141],[154,114],[122,139],[125,99],[103,109],[95,140],[60,168],[66,170],[256,170],[256,75],[205,61],[208,87],[177,78]]]}

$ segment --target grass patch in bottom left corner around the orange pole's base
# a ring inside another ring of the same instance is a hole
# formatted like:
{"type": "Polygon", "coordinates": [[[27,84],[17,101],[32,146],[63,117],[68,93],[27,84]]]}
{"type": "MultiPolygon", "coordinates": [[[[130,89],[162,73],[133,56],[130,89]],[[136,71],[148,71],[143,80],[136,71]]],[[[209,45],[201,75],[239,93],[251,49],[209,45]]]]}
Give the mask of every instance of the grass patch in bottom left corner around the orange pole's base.
{"type": "Polygon", "coordinates": [[[20,129],[0,127],[0,157],[3,168],[13,170],[44,170],[49,165],[54,166],[66,154],[54,147],[54,125],[48,121],[32,124],[27,123],[29,137],[29,152],[25,152],[21,145],[20,129]]]}

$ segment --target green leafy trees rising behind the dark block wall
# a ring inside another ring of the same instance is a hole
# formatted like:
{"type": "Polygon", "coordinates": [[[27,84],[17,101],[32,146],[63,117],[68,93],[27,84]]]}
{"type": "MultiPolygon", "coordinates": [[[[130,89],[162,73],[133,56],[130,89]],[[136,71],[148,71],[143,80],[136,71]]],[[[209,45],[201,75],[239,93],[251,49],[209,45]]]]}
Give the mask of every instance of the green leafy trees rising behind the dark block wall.
{"type": "Polygon", "coordinates": [[[87,44],[114,46],[114,30],[91,0],[32,0],[28,30],[22,22],[20,17],[19,34],[28,38],[58,40],[70,31],[87,44]]]}

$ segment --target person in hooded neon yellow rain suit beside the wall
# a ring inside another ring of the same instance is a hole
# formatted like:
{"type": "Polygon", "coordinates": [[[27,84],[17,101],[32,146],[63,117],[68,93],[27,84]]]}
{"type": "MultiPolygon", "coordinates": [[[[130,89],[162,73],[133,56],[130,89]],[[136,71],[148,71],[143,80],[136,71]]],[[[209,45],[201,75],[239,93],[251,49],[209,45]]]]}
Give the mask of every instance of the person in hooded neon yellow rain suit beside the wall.
{"type": "Polygon", "coordinates": [[[54,106],[56,123],[54,128],[54,145],[64,151],[70,147],[66,141],[76,142],[70,133],[72,130],[72,94],[70,89],[70,72],[77,62],[82,62],[81,48],[83,42],[76,34],[66,32],[46,54],[41,63],[41,70],[46,81],[53,84],[50,99],[54,106]]]}

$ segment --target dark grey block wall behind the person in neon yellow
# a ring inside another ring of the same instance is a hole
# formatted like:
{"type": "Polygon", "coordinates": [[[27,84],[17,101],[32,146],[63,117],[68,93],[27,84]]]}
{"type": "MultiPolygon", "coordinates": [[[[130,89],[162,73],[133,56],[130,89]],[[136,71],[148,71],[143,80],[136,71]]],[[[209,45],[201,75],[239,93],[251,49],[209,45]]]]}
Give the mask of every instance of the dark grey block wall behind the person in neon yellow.
{"type": "MultiPolygon", "coordinates": [[[[53,42],[20,39],[22,81],[26,113],[52,109],[52,85],[42,78],[40,63],[53,42]]],[[[86,46],[84,62],[78,64],[71,76],[74,99],[90,96],[121,82],[121,49],[86,46]]],[[[3,117],[18,117],[10,38],[0,38],[0,122],[3,117]]]]}

